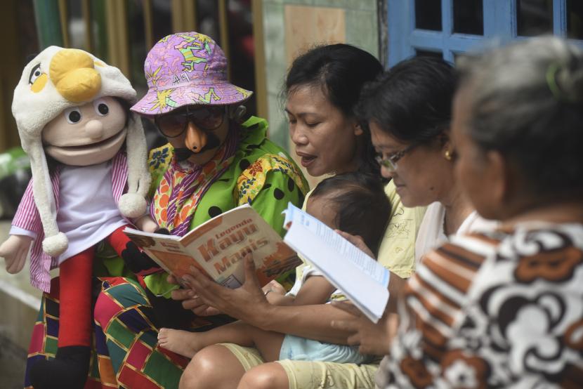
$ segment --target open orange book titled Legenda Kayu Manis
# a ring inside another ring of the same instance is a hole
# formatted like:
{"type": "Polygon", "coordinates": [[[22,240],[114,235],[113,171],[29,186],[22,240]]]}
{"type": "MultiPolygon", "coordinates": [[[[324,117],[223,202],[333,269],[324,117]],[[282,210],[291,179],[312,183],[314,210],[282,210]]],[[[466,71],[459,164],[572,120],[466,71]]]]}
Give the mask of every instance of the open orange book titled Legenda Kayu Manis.
{"type": "Polygon", "coordinates": [[[263,218],[244,204],[202,223],[183,237],[126,228],[124,233],[181,282],[191,267],[229,288],[245,280],[243,258],[251,252],[261,286],[301,263],[263,218]]]}

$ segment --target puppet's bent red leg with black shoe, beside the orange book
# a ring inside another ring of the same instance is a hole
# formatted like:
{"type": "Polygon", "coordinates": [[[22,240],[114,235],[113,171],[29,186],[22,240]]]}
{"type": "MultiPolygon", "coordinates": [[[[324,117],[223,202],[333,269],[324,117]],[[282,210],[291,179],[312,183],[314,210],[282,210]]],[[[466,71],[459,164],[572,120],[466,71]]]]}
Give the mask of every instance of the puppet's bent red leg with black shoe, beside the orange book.
{"type": "Polygon", "coordinates": [[[129,270],[134,274],[145,276],[159,272],[160,267],[124,234],[126,227],[128,226],[122,225],[112,232],[112,235],[107,237],[107,243],[123,258],[129,270]]]}

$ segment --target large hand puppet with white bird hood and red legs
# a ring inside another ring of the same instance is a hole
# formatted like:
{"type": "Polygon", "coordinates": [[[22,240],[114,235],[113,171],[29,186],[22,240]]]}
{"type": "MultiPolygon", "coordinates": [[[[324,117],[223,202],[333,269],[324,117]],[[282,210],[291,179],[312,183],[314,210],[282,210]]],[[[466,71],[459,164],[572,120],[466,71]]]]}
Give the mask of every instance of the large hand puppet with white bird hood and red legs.
{"type": "Polygon", "coordinates": [[[32,180],[0,256],[8,272],[18,272],[32,246],[31,284],[45,292],[49,270],[60,271],[58,350],[30,368],[34,388],[81,388],[86,381],[96,244],[105,239],[136,272],[143,270],[136,263],[148,263],[122,232],[127,225],[157,228],[145,216],[150,174],[143,127],[129,111],[135,100],[119,69],[57,46],[30,61],[15,88],[12,111],[32,180]]]}

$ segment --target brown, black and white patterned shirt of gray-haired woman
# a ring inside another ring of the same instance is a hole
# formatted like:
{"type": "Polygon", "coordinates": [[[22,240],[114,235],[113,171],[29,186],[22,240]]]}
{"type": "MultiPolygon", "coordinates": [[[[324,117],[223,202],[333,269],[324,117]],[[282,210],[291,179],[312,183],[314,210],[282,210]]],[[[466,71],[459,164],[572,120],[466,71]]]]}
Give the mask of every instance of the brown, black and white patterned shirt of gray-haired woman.
{"type": "Polygon", "coordinates": [[[452,237],[400,308],[381,388],[580,388],[583,225],[452,237]]]}

